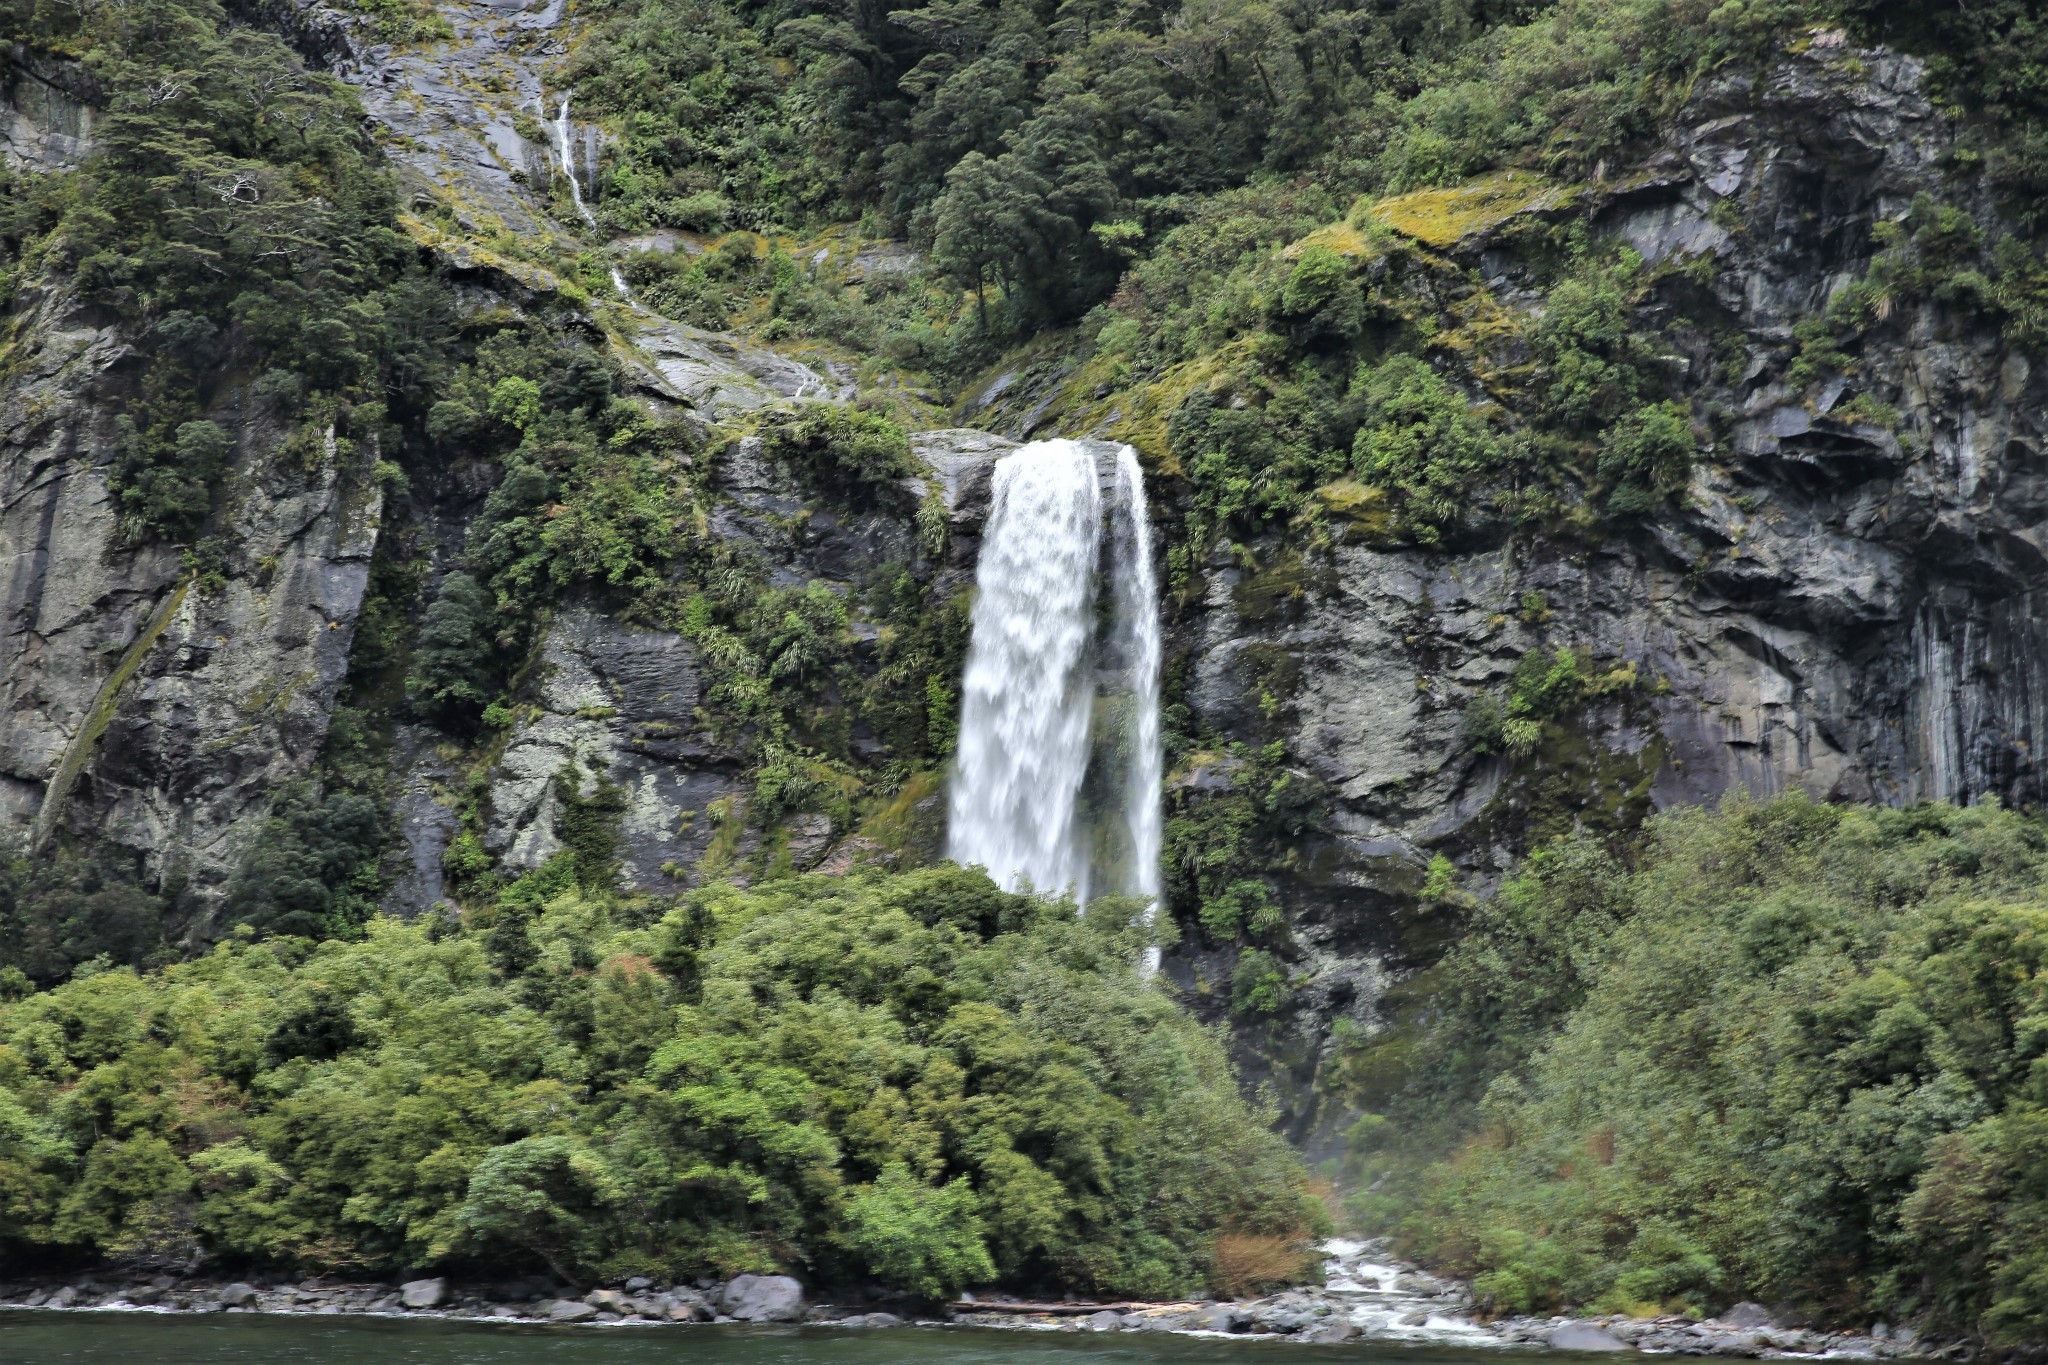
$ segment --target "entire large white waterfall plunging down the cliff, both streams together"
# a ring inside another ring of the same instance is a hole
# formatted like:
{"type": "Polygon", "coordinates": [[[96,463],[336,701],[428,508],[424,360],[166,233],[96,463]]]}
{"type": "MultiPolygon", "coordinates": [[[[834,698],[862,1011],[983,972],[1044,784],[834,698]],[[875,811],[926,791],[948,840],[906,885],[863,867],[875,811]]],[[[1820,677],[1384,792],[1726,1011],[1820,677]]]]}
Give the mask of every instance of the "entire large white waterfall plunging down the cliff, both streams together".
{"type": "Polygon", "coordinates": [[[1157,898],[1159,589],[1137,452],[1104,471],[1081,442],[1036,440],[997,460],[975,583],[948,855],[1012,890],[1085,902],[1100,878],[1157,898]]]}

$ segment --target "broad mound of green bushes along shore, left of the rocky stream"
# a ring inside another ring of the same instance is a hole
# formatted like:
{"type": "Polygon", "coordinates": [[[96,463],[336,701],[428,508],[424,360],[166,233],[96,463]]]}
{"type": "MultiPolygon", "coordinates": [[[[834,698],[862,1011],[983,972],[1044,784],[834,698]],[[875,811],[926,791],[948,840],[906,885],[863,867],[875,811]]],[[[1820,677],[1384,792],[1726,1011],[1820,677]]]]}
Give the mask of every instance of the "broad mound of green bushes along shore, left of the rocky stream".
{"type": "Polygon", "coordinates": [[[229,939],[0,1003],[10,1254],[1186,1293],[1319,1205],[1116,905],[979,872],[229,939]],[[264,1042],[268,1040],[268,1042],[264,1042]]]}

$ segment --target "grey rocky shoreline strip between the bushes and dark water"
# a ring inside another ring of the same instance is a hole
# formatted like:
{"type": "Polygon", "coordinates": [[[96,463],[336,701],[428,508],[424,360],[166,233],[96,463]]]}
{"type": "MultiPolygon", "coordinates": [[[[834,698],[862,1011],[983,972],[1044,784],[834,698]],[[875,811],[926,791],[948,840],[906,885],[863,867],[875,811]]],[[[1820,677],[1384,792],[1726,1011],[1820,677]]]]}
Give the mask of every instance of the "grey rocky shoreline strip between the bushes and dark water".
{"type": "Polygon", "coordinates": [[[0,1308],[98,1312],[264,1312],[424,1316],[563,1326],[678,1326],[778,1322],[840,1328],[983,1326],[1053,1332],[1237,1334],[1262,1340],[1405,1342],[1571,1353],[1714,1355],[1735,1359],[1978,1359],[1970,1342],[1929,1342],[1911,1328],[1827,1332],[1780,1324],[1755,1304],[1720,1318],[1503,1318],[1470,1316],[1470,1291],[1386,1257],[1382,1244],[1323,1246],[1325,1283],[1257,1300],[1182,1304],[981,1304],[930,1306],[866,1291],[858,1302],[809,1302],[786,1275],[655,1283],[627,1279],[584,1293],[547,1279],[451,1283],[342,1281],[332,1277],[115,1275],[0,1281],[0,1308]],[[901,1312],[897,1312],[901,1310],[901,1312]]]}

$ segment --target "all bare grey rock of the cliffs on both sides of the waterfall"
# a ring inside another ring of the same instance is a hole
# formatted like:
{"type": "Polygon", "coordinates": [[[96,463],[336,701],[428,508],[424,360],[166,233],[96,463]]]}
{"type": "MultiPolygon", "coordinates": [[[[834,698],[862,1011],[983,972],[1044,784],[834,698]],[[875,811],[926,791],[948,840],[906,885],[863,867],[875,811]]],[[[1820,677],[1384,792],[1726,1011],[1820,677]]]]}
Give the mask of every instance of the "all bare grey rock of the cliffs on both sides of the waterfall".
{"type": "MultiPolygon", "coordinates": [[[[412,194],[408,229],[473,297],[518,309],[573,293],[545,266],[475,246],[500,229],[561,231],[565,205],[549,199],[559,156],[518,129],[532,127],[520,115],[555,113],[541,72],[563,6],[442,12],[457,39],[399,57],[326,10],[287,8],[281,23],[309,61],[362,90],[412,194]]],[[[4,80],[8,158],[76,158],[92,92],[27,57],[4,80]]],[[[1434,929],[1411,909],[1438,851],[1483,884],[1540,833],[1733,788],[2048,796],[2034,759],[2048,743],[2048,377],[1995,321],[1915,299],[1858,338],[1849,379],[1788,377],[1794,325],[1868,272],[1874,225],[1921,192],[1993,215],[1950,168],[1952,139],[1919,63],[1823,35],[1769,72],[1704,82],[1645,166],[1583,186],[1567,209],[1526,209],[1581,215],[1651,266],[1700,266],[1661,276],[1645,305],[1667,323],[1661,362],[1696,411],[1716,413],[1681,512],[1597,540],[1475,526],[1440,548],[1337,518],[1327,553],[1266,546],[1257,571],[1219,555],[1178,610],[1184,702],[1245,741],[1278,716],[1321,800],[1282,886],[1305,1009],[1260,1042],[1298,1132],[1317,1121],[1307,1083],[1329,1021],[1376,1023],[1389,974],[1427,952],[1434,929]],[[1462,735],[1473,698],[1556,645],[1632,677],[1532,755],[1475,753],[1462,735]]],[[[1511,229],[1501,215],[1434,246],[1505,307],[1538,311],[1511,229]]],[[[823,364],[625,299],[580,307],[639,401],[707,426],[793,397],[852,397],[823,364]]],[[[274,473],[276,424],[236,399],[217,413],[240,434],[233,553],[197,581],[176,553],[125,544],[109,499],[109,409],[133,342],[61,291],[12,325],[29,344],[0,381],[0,812],[39,839],[92,831],[141,851],[152,876],[197,888],[203,933],[207,896],[322,745],[379,536],[377,452],[362,442],[319,473],[274,473]]],[[[987,465],[1008,438],[1059,428],[1051,389],[1001,377],[969,420],[1004,436],[920,438],[952,518],[930,591],[969,581],[987,465]]],[[[410,516],[430,526],[438,573],[477,491],[420,487],[410,516]]],[[[852,514],[741,442],[721,456],[709,534],[758,546],[778,581],[850,585],[918,555],[913,493],[852,514]]],[[[1178,495],[1169,479],[1155,487],[1155,520],[1178,495]]],[[[510,868],[545,860],[569,772],[578,796],[621,792],[627,880],[688,882],[731,819],[717,810],[745,798],[700,688],[688,641],[612,620],[598,602],[563,608],[492,769],[487,851],[510,868]]],[[[442,894],[459,800],[426,731],[393,739],[401,839],[387,905],[420,913],[442,894]]],[[[1219,774],[1198,765],[1174,782],[1198,798],[1219,774]]],[[[791,866],[850,857],[829,829],[786,835],[791,866]]],[[[1169,960],[1198,1001],[1227,995],[1227,972],[1194,948],[1169,960]]]]}

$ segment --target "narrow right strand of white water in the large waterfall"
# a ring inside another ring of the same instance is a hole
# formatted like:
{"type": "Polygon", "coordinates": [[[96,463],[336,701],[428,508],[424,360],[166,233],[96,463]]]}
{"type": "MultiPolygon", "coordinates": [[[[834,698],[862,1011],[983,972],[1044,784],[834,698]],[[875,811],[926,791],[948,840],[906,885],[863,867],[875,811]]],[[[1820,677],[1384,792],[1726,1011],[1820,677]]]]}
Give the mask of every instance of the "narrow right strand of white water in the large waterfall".
{"type": "MultiPolygon", "coordinates": [[[[1124,894],[1153,905],[1159,913],[1159,581],[1151,563],[1151,518],[1145,510],[1145,471],[1139,452],[1116,452],[1116,649],[1128,669],[1128,710],[1124,716],[1124,839],[1128,857],[1124,894]]],[[[1145,950],[1145,968],[1159,966],[1159,950],[1145,950]]]]}

